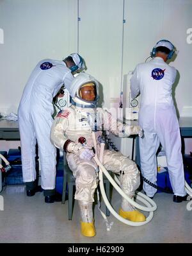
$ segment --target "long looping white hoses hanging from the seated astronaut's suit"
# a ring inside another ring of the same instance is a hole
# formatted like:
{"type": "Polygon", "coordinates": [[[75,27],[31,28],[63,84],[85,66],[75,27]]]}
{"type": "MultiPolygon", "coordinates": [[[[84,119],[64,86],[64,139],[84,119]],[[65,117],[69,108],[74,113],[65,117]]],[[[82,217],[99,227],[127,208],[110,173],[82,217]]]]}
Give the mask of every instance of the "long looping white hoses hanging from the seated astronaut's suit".
{"type": "MultiPolygon", "coordinates": [[[[93,142],[94,142],[94,146],[95,149],[97,149],[97,142],[95,139],[95,133],[92,133],[92,137],[93,137],[93,142]]],[[[104,152],[104,143],[100,144],[100,150],[101,153],[104,152]]],[[[101,158],[101,153],[100,153],[100,159],[101,158]]],[[[147,207],[144,207],[142,205],[139,205],[138,203],[136,203],[134,200],[132,200],[131,198],[129,198],[124,191],[122,191],[122,189],[116,184],[116,182],[113,180],[113,178],[111,177],[111,175],[109,175],[108,171],[105,169],[105,167],[101,164],[100,160],[97,157],[97,152],[95,152],[95,157],[94,160],[96,162],[96,164],[99,166],[99,185],[100,185],[100,192],[102,194],[102,198],[104,200],[104,203],[106,204],[106,206],[108,207],[109,211],[111,212],[111,214],[113,214],[113,216],[115,216],[115,218],[117,218],[118,220],[122,221],[123,223],[127,224],[127,225],[131,225],[131,226],[141,226],[141,225],[145,225],[147,224],[152,218],[153,218],[153,212],[154,210],[157,209],[157,205],[156,203],[151,200],[150,198],[148,198],[148,196],[145,196],[144,194],[138,192],[137,194],[137,198],[138,200],[142,201],[145,205],[147,205],[147,207]],[[111,204],[108,201],[108,198],[106,196],[106,192],[104,190],[104,183],[103,183],[103,177],[102,177],[102,173],[104,173],[104,175],[106,175],[106,178],[108,178],[109,182],[113,185],[113,187],[115,187],[116,191],[118,191],[124,198],[125,200],[129,201],[129,203],[131,203],[131,205],[133,205],[134,207],[144,210],[146,212],[150,212],[149,216],[147,217],[146,221],[142,221],[142,222],[133,222],[133,221],[128,221],[127,219],[122,218],[119,214],[117,214],[115,212],[115,210],[113,209],[113,207],[111,207],[111,204]],[[151,207],[151,205],[152,207],[151,207]]]]}

